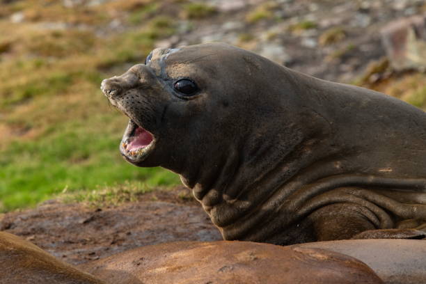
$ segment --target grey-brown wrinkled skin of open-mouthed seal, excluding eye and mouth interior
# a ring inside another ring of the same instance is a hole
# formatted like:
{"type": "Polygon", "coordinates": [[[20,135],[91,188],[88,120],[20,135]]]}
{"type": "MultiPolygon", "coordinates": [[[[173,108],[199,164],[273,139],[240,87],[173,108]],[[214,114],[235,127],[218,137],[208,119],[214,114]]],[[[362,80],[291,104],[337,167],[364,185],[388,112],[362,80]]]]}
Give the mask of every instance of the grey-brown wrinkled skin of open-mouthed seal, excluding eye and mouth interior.
{"type": "Polygon", "coordinates": [[[155,49],[102,90],[124,142],[152,134],[125,159],[178,173],[224,239],[424,237],[426,114],[405,102],[221,43],[155,49]]]}

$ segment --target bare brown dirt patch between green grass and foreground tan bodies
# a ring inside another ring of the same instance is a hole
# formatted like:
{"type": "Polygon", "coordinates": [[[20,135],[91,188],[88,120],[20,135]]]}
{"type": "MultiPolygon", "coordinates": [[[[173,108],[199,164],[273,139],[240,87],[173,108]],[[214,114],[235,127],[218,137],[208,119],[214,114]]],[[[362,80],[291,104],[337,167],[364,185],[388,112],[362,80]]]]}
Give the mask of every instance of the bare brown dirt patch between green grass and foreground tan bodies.
{"type": "Polygon", "coordinates": [[[33,210],[0,216],[0,230],[72,264],[149,244],[221,239],[189,196],[187,189],[177,187],[144,194],[137,202],[98,208],[49,200],[33,210]]]}

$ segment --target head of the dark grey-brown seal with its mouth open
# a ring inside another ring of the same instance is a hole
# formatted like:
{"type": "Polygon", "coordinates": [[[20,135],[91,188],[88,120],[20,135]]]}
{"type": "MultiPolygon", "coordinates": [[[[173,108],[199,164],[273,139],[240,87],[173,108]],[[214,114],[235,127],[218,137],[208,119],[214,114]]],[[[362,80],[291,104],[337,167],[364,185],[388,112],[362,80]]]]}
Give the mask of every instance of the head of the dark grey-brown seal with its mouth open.
{"type": "Polygon", "coordinates": [[[102,82],[111,104],[129,117],[121,154],[136,166],[180,173],[189,187],[214,182],[235,152],[267,151],[265,133],[276,134],[276,123],[294,112],[280,102],[280,70],[221,43],[155,49],[145,64],[102,82]]]}

